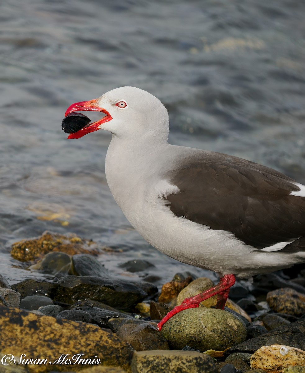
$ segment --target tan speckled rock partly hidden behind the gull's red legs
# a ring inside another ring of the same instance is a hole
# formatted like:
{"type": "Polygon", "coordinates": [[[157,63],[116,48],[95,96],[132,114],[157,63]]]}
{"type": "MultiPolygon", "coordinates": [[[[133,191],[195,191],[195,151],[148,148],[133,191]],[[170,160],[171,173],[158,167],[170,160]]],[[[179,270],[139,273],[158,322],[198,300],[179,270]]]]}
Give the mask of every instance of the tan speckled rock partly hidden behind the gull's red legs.
{"type": "MultiPolygon", "coordinates": [[[[194,281],[192,281],[188,286],[180,291],[177,296],[177,304],[182,304],[185,298],[194,297],[194,295],[200,294],[207,289],[210,289],[214,286],[214,282],[206,277],[200,277],[194,281]]],[[[217,302],[217,295],[214,297],[208,298],[207,300],[200,303],[200,307],[208,307],[211,308],[216,306],[217,302]]],[[[228,299],[226,302],[226,307],[230,308],[231,310],[239,313],[249,322],[251,322],[251,317],[241,308],[239,305],[234,303],[232,300],[228,299]]]]}

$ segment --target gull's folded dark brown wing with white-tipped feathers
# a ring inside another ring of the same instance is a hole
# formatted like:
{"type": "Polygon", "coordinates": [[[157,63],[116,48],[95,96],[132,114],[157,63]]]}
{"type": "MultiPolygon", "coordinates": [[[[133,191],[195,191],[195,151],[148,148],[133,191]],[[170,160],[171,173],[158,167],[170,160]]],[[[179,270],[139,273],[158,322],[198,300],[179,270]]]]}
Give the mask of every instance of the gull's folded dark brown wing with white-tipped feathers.
{"type": "Polygon", "coordinates": [[[305,235],[305,197],[276,170],[220,153],[185,159],[166,175],[180,192],[164,196],[177,216],[229,231],[257,249],[305,235]]]}

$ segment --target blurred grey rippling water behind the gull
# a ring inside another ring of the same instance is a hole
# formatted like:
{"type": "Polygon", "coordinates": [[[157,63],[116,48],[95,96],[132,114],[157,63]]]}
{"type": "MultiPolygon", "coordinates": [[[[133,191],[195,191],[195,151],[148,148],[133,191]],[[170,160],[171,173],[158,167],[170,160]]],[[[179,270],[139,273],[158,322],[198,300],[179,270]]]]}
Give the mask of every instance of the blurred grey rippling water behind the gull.
{"type": "Polygon", "coordinates": [[[145,273],[160,283],[181,270],[201,274],[131,228],[105,178],[110,135],[67,141],[63,115],[132,85],[165,104],[172,144],[304,183],[304,15],[299,0],[1,1],[0,274],[42,278],[9,248],[46,229],[122,248],[99,258],[113,273],[142,258],[158,266],[145,273]]]}

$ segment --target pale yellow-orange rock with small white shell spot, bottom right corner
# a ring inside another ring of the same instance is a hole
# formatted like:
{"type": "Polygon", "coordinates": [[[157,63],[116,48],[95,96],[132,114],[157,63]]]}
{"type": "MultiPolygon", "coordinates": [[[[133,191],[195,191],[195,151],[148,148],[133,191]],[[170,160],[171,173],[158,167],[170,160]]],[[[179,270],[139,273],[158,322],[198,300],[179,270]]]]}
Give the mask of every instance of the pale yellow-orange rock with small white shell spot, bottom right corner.
{"type": "Polygon", "coordinates": [[[262,346],[251,356],[251,368],[269,373],[284,372],[290,365],[305,365],[305,351],[285,345],[262,346]]]}

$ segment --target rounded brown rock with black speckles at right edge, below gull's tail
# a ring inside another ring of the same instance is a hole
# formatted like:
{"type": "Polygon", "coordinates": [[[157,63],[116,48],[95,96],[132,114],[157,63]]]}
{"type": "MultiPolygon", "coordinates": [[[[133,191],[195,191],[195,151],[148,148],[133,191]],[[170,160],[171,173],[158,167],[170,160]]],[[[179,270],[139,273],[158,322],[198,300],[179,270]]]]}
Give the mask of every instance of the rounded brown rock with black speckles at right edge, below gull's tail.
{"type": "Polygon", "coordinates": [[[299,316],[305,313],[305,295],[294,289],[283,288],[270,291],[266,299],[276,312],[299,316]]]}

